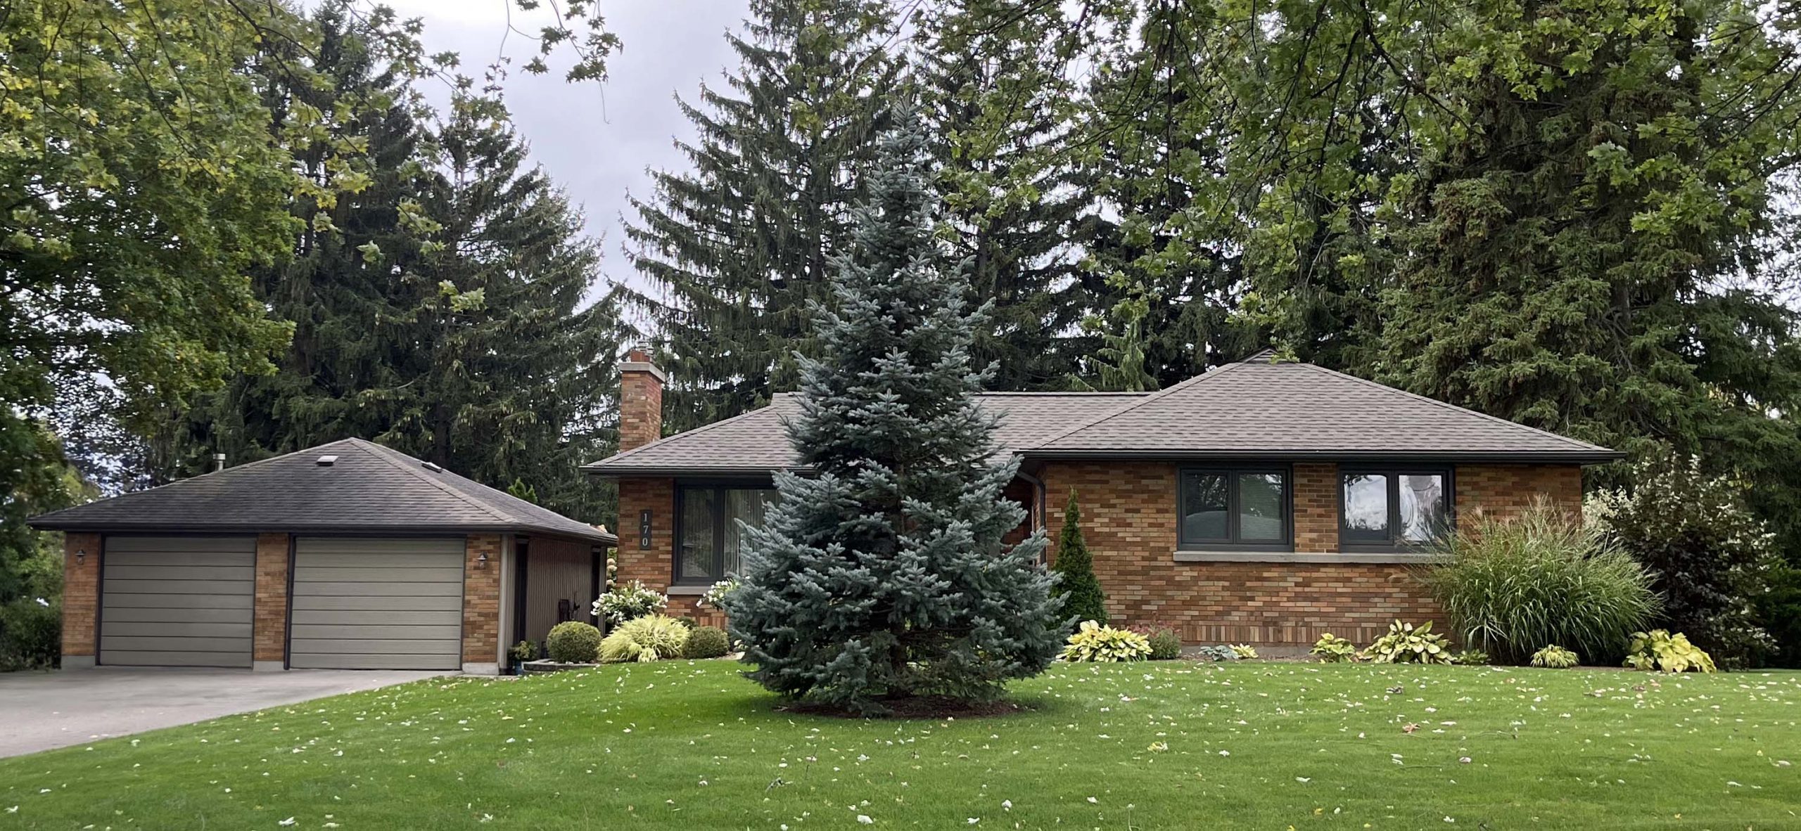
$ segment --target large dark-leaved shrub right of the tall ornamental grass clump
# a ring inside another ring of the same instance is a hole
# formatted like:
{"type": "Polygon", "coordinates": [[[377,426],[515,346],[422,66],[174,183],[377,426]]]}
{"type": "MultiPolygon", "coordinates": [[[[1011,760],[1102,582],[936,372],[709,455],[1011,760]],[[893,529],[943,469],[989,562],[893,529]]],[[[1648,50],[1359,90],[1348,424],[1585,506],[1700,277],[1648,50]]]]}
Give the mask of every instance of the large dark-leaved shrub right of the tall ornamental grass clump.
{"type": "Polygon", "coordinates": [[[1774,651],[1754,603],[1781,561],[1761,520],[1745,507],[1747,484],[1707,477],[1697,459],[1664,457],[1632,469],[1632,487],[1588,500],[1601,534],[1652,574],[1664,604],[1655,622],[1688,633],[1727,666],[1774,651]]]}

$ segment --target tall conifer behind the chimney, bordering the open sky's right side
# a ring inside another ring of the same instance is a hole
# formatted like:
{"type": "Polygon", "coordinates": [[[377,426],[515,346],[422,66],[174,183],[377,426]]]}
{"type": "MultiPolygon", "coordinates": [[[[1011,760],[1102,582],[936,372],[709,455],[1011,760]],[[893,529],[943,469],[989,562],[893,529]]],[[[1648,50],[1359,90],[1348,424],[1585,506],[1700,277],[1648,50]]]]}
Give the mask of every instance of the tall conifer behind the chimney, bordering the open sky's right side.
{"type": "Polygon", "coordinates": [[[683,113],[701,137],[693,169],[654,173],[632,200],[634,293],[665,338],[666,426],[688,430],[794,389],[810,353],[809,304],[830,293],[834,245],[848,237],[859,174],[893,92],[882,0],[756,0],[729,90],[701,90],[683,113]]]}

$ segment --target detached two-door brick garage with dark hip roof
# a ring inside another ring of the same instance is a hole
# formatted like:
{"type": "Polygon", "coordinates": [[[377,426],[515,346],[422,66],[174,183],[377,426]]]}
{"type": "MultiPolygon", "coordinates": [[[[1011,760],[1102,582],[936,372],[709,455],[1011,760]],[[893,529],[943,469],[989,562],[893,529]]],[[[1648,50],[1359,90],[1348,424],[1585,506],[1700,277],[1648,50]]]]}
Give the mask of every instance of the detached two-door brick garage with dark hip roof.
{"type": "Polygon", "coordinates": [[[587,621],[616,538],[362,439],[31,520],[63,669],[461,669],[587,621]]]}

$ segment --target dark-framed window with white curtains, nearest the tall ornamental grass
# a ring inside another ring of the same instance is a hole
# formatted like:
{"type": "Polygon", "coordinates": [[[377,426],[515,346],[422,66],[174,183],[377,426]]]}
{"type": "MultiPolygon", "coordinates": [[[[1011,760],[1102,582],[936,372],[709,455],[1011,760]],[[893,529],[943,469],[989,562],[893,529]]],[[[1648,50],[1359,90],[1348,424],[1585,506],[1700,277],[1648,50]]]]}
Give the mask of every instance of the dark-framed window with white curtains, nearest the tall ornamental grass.
{"type": "Polygon", "coordinates": [[[1450,522],[1444,469],[1345,469],[1338,477],[1342,549],[1398,550],[1430,543],[1450,522]]]}

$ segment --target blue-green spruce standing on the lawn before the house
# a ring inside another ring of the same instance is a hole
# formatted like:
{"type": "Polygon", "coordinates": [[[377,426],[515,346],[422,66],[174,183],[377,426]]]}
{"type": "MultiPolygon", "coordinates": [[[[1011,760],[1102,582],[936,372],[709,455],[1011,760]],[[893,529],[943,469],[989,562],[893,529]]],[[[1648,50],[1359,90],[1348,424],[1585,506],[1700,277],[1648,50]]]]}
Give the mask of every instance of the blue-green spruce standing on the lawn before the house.
{"type": "Polygon", "coordinates": [[[731,628],[758,684],[854,712],[895,700],[992,700],[1041,673],[1061,644],[1063,603],[1037,565],[1043,532],[1001,540],[1025,509],[1001,496],[996,421],[974,394],[980,313],[940,268],[922,128],[881,140],[850,254],[818,311],[819,358],[801,358],[789,423],[805,475],[776,475],[778,504],[753,529],[731,628]]]}

